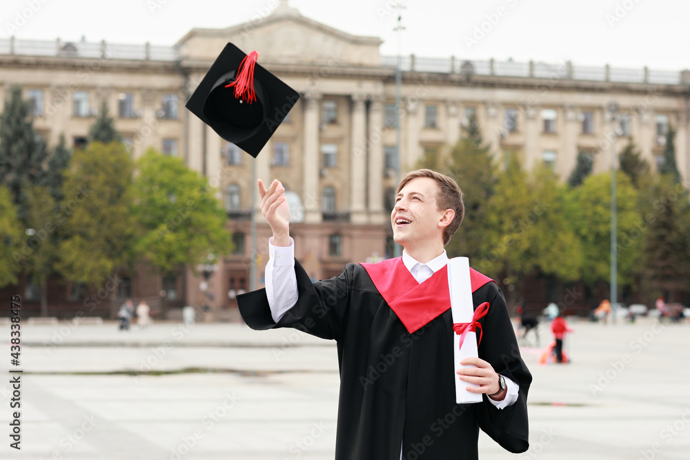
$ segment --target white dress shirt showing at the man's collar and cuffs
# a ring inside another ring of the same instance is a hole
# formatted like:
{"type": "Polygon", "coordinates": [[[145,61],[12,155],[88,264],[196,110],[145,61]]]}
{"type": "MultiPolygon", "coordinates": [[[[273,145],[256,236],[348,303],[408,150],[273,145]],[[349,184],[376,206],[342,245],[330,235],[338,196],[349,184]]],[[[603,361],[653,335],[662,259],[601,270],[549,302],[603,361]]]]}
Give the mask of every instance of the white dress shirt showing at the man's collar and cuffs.
{"type": "MultiPolygon", "coordinates": [[[[428,263],[416,261],[406,251],[402,252],[402,263],[410,270],[410,273],[417,280],[423,283],[437,270],[444,268],[448,263],[446,250],[440,256],[435,257],[428,263]]],[[[268,263],[266,263],[266,297],[270,314],[276,323],[283,317],[285,312],[290,310],[297,302],[297,277],[295,275],[295,241],[290,238],[290,246],[273,246],[273,237],[268,239],[268,263]]],[[[499,409],[511,406],[517,401],[517,391],[520,389],[517,383],[511,379],[506,379],[508,392],[503,401],[489,402],[499,409]]],[[[400,452],[402,459],[402,446],[400,452]]]]}

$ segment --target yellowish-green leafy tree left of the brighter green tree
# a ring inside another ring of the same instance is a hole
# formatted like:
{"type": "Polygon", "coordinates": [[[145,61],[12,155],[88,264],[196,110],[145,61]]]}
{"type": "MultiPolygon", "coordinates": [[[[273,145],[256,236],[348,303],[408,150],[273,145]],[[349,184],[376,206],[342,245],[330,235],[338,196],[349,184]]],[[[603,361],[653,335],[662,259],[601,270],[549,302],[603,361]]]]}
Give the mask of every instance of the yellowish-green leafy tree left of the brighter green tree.
{"type": "Polygon", "coordinates": [[[102,286],[119,268],[131,266],[132,170],[122,143],[93,142],[72,156],[60,206],[66,238],[56,263],[65,279],[102,286]]]}

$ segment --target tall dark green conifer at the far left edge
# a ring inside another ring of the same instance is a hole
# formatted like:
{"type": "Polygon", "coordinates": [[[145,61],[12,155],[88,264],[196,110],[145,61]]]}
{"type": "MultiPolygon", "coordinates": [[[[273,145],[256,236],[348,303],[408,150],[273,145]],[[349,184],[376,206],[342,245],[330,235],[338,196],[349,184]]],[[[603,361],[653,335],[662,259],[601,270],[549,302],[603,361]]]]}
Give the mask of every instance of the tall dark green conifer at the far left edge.
{"type": "Polygon", "coordinates": [[[0,182],[10,189],[20,220],[26,218],[26,193],[46,181],[46,145],[34,130],[21,86],[12,86],[0,117],[0,182]]]}

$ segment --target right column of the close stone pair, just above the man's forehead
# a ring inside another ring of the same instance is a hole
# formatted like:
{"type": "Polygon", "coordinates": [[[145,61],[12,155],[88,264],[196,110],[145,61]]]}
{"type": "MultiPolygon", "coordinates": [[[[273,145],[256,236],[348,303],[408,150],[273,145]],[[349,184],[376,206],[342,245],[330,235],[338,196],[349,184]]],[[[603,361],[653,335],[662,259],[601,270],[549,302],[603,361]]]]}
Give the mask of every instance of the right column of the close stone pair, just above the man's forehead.
{"type": "Polygon", "coordinates": [[[384,210],[384,97],[375,94],[369,105],[369,222],[386,223],[384,210]]]}

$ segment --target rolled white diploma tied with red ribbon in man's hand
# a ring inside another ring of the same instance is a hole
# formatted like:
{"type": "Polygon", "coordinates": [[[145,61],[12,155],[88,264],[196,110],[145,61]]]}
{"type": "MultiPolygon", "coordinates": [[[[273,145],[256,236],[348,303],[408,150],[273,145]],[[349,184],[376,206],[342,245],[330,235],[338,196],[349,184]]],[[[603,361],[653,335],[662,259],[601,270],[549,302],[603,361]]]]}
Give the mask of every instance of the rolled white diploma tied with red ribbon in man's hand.
{"type": "MultiPolygon", "coordinates": [[[[470,263],[467,257],[453,257],[449,260],[448,288],[451,294],[453,323],[469,323],[474,315],[474,305],[472,302],[470,263]]],[[[470,357],[478,357],[477,334],[467,332],[461,349],[460,335],[453,332],[453,379],[455,379],[455,402],[458,404],[482,402],[482,394],[471,393],[465,389],[468,386],[478,387],[479,385],[462,381],[460,376],[455,374],[455,371],[460,368],[475,367],[460,364],[460,361],[470,357]]]]}

